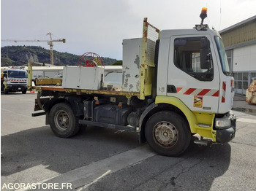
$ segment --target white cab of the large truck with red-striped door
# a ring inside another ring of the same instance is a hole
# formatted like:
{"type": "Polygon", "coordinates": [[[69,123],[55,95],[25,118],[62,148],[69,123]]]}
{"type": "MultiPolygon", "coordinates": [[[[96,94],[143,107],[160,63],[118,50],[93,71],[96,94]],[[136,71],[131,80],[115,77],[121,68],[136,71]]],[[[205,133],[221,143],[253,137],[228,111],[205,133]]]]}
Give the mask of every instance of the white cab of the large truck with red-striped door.
{"type": "Polygon", "coordinates": [[[159,41],[157,95],[179,98],[194,112],[229,112],[234,79],[217,31],[165,30],[159,41]]]}

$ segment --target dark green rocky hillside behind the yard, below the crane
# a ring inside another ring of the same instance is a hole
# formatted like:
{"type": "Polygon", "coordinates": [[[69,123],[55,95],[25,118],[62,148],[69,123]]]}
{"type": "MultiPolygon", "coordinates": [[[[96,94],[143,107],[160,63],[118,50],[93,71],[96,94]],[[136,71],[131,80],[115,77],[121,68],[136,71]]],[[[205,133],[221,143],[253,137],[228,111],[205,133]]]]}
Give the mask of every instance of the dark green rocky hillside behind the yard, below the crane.
{"type": "MultiPolygon", "coordinates": [[[[54,65],[76,65],[80,55],[53,50],[54,65]]],[[[105,66],[116,63],[116,59],[102,58],[105,66]]],[[[1,47],[1,66],[22,66],[28,62],[50,63],[50,50],[39,46],[1,47]]]]}

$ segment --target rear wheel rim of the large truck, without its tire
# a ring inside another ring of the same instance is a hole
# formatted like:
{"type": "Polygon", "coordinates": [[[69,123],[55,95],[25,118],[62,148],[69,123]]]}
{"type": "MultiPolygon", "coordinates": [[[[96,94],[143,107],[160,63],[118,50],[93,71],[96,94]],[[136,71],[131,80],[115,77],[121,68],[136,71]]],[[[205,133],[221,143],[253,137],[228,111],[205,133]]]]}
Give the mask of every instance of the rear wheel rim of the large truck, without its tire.
{"type": "Polygon", "coordinates": [[[67,130],[69,128],[69,115],[64,110],[59,110],[55,114],[54,122],[59,130],[67,130]]]}

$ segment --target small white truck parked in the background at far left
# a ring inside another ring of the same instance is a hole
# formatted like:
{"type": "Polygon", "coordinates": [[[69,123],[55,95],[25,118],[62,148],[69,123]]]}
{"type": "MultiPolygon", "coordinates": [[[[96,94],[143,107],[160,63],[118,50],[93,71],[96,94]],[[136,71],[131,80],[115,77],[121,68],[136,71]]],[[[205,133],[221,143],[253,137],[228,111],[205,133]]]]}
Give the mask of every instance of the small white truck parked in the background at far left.
{"type": "Polygon", "coordinates": [[[23,69],[1,69],[1,92],[26,93],[28,89],[28,74],[23,69]]]}

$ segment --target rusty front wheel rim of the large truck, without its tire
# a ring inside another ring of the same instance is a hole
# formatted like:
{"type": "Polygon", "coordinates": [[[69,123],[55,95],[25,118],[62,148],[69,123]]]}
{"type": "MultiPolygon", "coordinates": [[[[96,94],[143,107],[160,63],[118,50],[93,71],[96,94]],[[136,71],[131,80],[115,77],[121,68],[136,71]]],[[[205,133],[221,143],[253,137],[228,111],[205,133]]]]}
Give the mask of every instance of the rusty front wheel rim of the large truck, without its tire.
{"type": "Polygon", "coordinates": [[[178,130],[170,122],[158,122],[154,126],[154,138],[163,147],[172,147],[178,140],[178,130]]]}

